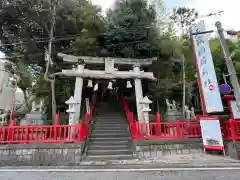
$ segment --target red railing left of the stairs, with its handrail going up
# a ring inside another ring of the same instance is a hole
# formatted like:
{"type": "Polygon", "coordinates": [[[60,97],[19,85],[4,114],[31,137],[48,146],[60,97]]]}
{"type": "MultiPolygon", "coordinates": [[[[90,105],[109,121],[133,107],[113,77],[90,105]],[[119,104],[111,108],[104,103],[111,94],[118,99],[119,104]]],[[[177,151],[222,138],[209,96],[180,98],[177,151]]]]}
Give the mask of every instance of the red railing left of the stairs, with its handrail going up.
{"type": "Polygon", "coordinates": [[[9,126],[0,127],[0,144],[3,143],[64,143],[81,142],[88,135],[88,124],[95,111],[97,97],[93,95],[90,112],[86,112],[84,122],[74,125],[59,125],[56,115],[54,125],[45,126],[9,126]]]}

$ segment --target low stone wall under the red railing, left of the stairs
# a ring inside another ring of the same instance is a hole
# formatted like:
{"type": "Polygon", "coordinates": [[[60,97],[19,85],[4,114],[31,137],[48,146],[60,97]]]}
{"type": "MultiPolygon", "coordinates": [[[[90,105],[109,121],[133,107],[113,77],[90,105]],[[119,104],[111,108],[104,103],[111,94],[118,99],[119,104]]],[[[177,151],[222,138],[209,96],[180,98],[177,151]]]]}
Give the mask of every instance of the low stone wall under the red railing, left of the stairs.
{"type": "Polygon", "coordinates": [[[71,166],[82,160],[82,143],[0,145],[0,166],[71,166]]]}

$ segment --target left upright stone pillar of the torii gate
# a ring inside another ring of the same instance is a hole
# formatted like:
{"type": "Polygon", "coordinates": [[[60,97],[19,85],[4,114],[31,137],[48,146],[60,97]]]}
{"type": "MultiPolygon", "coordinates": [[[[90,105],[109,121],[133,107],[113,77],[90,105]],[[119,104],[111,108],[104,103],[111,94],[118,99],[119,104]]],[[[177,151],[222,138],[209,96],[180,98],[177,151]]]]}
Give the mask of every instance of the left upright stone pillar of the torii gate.
{"type": "MultiPolygon", "coordinates": [[[[84,65],[79,64],[77,66],[76,71],[83,73],[84,65]]],[[[82,102],[82,88],[83,88],[83,78],[82,77],[76,77],[75,82],[75,90],[74,90],[74,100],[79,102],[76,104],[75,110],[75,117],[74,117],[74,124],[78,124],[80,120],[80,113],[81,113],[81,102],[82,102]]]]}

